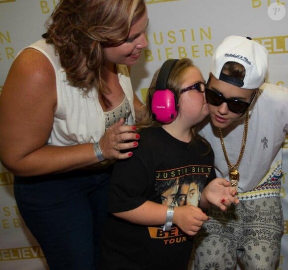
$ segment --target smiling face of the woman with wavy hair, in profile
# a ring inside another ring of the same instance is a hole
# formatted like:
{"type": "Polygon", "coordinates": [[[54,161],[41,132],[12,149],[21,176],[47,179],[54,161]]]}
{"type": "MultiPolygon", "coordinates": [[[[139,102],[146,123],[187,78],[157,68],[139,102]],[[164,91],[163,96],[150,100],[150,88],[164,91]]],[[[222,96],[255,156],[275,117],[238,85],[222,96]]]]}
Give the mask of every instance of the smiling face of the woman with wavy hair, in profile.
{"type": "Polygon", "coordinates": [[[142,18],[132,25],[128,39],[117,47],[104,48],[106,65],[135,65],[141,56],[141,51],[148,45],[145,37],[148,25],[147,9],[142,18]]]}

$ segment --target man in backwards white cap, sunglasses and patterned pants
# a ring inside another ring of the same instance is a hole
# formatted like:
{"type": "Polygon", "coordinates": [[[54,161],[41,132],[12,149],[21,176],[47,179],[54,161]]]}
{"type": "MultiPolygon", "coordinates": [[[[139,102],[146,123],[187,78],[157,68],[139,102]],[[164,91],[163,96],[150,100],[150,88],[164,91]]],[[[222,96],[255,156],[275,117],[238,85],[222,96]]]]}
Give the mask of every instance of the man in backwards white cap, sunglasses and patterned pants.
{"type": "Polygon", "coordinates": [[[201,130],[215,152],[217,177],[229,179],[240,203],[210,209],[195,239],[195,270],[275,270],[280,258],[282,143],[288,89],[264,82],[267,50],[229,36],[216,49],[206,88],[210,119],[201,130]],[[248,127],[249,126],[249,127],[248,127]]]}

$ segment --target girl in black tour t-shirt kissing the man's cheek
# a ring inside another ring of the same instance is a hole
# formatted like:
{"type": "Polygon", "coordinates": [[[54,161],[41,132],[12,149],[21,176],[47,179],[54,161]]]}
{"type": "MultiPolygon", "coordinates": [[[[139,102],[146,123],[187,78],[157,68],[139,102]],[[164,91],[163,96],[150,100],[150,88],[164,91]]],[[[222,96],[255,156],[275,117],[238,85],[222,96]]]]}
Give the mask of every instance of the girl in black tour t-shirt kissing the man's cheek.
{"type": "Polygon", "coordinates": [[[226,210],[238,203],[229,182],[214,179],[214,153],[196,133],[195,125],[208,115],[204,92],[204,78],[189,59],[168,60],[154,74],[138,126],[141,143],[133,158],[116,162],[112,172],[112,214],[102,238],[100,269],[187,270],[192,236],[209,219],[201,208],[213,203],[226,210]],[[174,119],[160,123],[151,104],[162,91],[155,85],[165,79],[163,73],[176,111],[174,119]],[[195,205],[189,204],[195,202],[188,200],[191,195],[198,196],[195,205]]]}

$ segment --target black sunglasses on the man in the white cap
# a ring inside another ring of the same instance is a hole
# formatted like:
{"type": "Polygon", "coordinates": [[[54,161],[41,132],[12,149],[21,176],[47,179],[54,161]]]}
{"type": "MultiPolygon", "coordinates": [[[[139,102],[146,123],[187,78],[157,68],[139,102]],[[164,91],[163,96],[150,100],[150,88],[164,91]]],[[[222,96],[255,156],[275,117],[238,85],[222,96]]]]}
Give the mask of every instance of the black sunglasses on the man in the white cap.
{"type": "MultiPolygon", "coordinates": [[[[255,93],[256,94],[256,93],[255,93]]],[[[255,96],[253,95],[251,102],[255,96]]],[[[242,114],[247,111],[249,106],[251,105],[251,102],[245,102],[243,100],[233,99],[233,98],[225,98],[220,93],[206,87],[205,90],[206,100],[208,103],[210,103],[213,106],[220,106],[223,102],[227,104],[227,107],[229,111],[236,113],[236,114],[242,114]]]]}

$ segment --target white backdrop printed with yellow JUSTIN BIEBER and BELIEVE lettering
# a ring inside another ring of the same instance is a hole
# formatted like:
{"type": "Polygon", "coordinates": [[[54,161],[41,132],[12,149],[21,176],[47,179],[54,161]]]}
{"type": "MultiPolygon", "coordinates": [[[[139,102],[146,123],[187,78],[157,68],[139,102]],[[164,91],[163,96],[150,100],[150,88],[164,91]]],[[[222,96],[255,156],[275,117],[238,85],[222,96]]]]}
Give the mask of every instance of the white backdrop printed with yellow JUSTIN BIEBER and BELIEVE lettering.
{"type": "MultiPolygon", "coordinates": [[[[17,52],[45,31],[57,0],[0,0],[0,92],[17,52]]],[[[170,58],[189,57],[207,79],[211,56],[228,35],[250,36],[270,53],[266,82],[288,87],[288,0],[146,0],[148,47],[132,68],[144,99],[152,74],[170,58]]],[[[20,142],[19,142],[20,143],[20,142]]],[[[278,270],[288,269],[288,139],[284,148],[282,202],[285,233],[278,270]]],[[[13,177],[0,164],[0,270],[44,270],[45,258],[21,220],[13,177]]],[[[239,269],[239,267],[237,267],[239,269]]]]}

